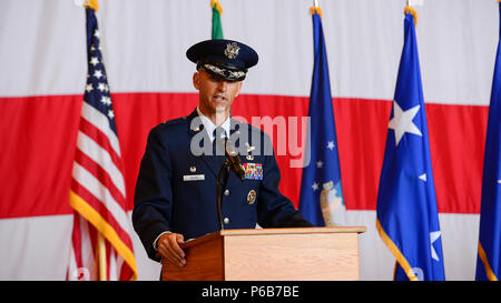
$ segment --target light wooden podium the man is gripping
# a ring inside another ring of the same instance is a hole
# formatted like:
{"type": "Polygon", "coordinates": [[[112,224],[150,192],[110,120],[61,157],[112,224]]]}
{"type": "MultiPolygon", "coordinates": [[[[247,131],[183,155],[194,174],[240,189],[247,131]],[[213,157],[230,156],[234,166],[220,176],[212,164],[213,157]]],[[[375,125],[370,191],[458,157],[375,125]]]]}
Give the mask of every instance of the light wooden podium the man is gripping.
{"type": "Polygon", "coordinates": [[[183,267],[164,281],[358,280],[363,226],[224,230],[186,242],[183,267]]]}

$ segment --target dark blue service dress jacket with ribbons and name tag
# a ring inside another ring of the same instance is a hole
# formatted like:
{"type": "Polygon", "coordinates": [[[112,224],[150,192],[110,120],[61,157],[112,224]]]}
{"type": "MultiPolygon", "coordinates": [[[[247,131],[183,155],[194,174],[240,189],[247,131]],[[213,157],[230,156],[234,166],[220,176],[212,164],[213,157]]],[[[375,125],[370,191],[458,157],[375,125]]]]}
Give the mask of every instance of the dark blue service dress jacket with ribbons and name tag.
{"type": "MultiPolygon", "coordinates": [[[[313,226],[278,191],[281,172],[269,137],[232,119],[230,139],[246,176],[242,181],[233,171],[225,175],[220,191],[224,228],[254,229],[256,223],[262,228],[313,226]]],[[[159,261],[153,243],[165,231],[187,240],[219,230],[216,178],[224,160],[212,154],[210,139],[196,110],[151,129],[132,211],[134,229],[150,259],[159,261]]]]}

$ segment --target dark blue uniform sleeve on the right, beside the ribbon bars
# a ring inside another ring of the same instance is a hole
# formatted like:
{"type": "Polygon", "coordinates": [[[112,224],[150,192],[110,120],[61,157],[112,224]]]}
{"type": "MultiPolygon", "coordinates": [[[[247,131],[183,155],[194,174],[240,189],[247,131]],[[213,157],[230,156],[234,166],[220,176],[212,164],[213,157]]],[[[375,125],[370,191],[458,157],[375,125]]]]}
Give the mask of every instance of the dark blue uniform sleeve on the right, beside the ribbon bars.
{"type": "Polygon", "coordinates": [[[257,204],[257,223],[263,228],[311,228],[291,200],[278,191],[281,170],[269,137],[264,134],[263,182],[257,204]]]}

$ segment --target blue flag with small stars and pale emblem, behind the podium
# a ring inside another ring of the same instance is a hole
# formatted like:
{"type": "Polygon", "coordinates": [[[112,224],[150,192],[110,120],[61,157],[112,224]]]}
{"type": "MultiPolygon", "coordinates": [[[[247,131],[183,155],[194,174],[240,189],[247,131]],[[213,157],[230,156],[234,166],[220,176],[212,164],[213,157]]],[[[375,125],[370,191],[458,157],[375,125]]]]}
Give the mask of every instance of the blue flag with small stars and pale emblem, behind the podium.
{"type": "Polygon", "coordinates": [[[345,206],[327,53],[321,16],[314,11],[312,19],[314,70],[308,109],[311,132],[306,142],[306,159],[310,159],[310,163],[303,169],[299,210],[315,226],[344,225],[345,206]]]}

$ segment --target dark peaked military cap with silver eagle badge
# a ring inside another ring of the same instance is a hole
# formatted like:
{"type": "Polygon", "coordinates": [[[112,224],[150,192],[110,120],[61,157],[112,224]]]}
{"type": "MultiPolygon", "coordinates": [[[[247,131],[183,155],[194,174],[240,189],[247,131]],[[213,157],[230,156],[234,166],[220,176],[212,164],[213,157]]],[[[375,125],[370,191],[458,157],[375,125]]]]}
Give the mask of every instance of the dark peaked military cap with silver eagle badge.
{"type": "Polygon", "coordinates": [[[257,64],[258,55],[250,47],[233,40],[214,39],[196,43],[186,57],[215,77],[242,81],[247,70],[257,64]]]}

